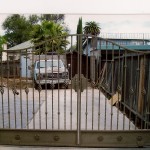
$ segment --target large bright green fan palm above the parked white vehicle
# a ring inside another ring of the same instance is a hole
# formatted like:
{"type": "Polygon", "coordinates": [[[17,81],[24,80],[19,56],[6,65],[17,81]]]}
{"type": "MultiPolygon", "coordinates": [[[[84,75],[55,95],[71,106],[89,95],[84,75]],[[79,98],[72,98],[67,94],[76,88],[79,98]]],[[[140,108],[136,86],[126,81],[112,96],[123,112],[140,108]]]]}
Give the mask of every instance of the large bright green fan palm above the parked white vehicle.
{"type": "MultiPolygon", "coordinates": [[[[46,42],[46,51],[55,51],[63,53],[69,42],[66,40],[67,32],[63,26],[53,21],[43,21],[41,25],[35,25],[31,32],[32,41],[34,44],[42,41],[46,42]]],[[[45,50],[40,50],[39,53],[44,53],[45,50]]]]}

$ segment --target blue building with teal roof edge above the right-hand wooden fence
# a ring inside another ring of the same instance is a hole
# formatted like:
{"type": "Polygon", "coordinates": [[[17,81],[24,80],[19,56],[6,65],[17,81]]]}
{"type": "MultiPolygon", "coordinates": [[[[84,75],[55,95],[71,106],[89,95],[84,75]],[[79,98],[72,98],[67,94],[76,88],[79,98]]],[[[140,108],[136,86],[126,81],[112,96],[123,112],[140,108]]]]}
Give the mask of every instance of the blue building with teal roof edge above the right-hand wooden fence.
{"type": "MultiPolygon", "coordinates": [[[[149,51],[150,50],[150,39],[120,39],[120,38],[107,38],[107,40],[112,41],[118,45],[124,46],[132,50],[140,51],[149,51]]],[[[118,53],[119,46],[112,46],[111,42],[106,42],[103,39],[96,38],[92,43],[92,39],[89,38],[88,41],[85,41],[83,44],[83,53],[89,56],[97,56],[101,50],[101,54],[106,53],[106,50],[109,53],[112,53],[112,50],[115,51],[115,54],[118,53]]],[[[120,48],[121,49],[121,48],[120,48]]]]}

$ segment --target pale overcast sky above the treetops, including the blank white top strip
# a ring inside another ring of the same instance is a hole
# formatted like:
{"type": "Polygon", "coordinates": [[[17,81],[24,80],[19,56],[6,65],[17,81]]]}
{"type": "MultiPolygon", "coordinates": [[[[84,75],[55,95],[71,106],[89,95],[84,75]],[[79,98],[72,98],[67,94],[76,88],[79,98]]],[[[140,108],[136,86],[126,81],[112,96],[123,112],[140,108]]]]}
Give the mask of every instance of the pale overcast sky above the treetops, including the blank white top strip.
{"type": "Polygon", "coordinates": [[[28,0],[13,0],[17,3],[15,7],[12,7],[12,1],[7,1],[0,6],[0,35],[4,34],[2,23],[8,15],[14,13],[63,13],[71,34],[76,33],[79,17],[82,17],[83,26],[88,21],[97,22],[101,33],[150,33],[149,0],[54,0],[51,1],[53,3],[48,0],[34,3],[35,0],[32,0],[30,5],[28,0]],[[35,7],[32,7],[32,3],[35,7]],[[26,4],[27,7],[22,7],[26,4]]]}

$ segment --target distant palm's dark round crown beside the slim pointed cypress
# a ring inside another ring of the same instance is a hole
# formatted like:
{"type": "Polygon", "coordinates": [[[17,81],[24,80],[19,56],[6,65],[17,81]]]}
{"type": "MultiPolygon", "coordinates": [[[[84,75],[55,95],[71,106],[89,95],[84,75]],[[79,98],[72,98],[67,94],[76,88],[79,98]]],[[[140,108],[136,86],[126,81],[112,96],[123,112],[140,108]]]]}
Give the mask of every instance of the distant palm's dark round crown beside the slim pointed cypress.
{"type": "Polygon", "coordinates": [[[85,23],[85,27],[83,29],[84,34],[98,36],[100,34],[99,24],[95,21],[90,21],[85,23]]]}

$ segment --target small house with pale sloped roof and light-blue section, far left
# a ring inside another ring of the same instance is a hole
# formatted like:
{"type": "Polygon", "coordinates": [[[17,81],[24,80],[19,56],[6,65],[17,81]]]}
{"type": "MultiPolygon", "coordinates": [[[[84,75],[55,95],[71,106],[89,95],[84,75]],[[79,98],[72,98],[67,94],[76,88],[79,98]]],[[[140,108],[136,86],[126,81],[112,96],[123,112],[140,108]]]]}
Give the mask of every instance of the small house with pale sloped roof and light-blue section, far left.
{"type": "Polygon", "coordinates": [[[16,77],[31,77],[27,66],[31,63],[30,55],[33,46],[33,43],[29,40],[7,49],[7,63],[4,62],[4,64],[9,65],[10,76],[15,74],[16,77]]]}

